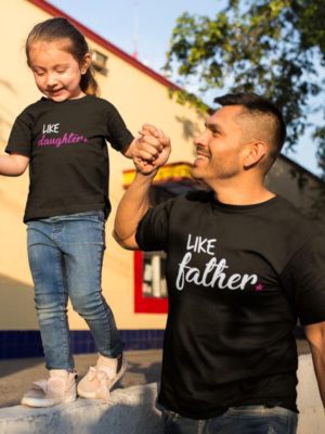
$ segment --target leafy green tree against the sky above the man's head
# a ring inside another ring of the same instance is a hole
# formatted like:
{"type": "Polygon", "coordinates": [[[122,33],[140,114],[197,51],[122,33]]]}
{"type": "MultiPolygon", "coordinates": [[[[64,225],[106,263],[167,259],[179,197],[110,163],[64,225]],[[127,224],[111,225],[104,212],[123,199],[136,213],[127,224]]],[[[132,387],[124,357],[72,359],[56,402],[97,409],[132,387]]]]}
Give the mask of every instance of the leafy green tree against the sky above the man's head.
{"type": "MultiPolygon", "coordinates": [[[[272,99],[288,124],[289,148],[312,128],[325,177],[325,127],[310,124],[315,112],[325,118],[324,20],[324,0],[227,0],[214,17],[184,13],[165,68],[178,72],[183,88],[198,80],[200,99],[213,88],[272,99]]],[[[200,104],[186,91],[178,97],[200,104]]]]}

